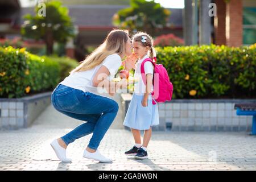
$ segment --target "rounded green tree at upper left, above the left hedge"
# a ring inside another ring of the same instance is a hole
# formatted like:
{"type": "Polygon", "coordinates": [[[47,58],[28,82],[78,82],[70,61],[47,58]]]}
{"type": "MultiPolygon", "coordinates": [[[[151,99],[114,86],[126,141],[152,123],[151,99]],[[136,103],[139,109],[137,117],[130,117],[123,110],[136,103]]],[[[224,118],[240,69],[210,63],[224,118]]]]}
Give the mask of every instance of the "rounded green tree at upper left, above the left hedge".
{"type": "Polygon", "coordinates": [[[49,1],[35,7],[35,16],[27,14],[22,25],[21,34],[25,38],[43,39],[47,47],[47,55],[53,53],[53,43],[65,43],[69,37],[75,36],[75,27],[68,15],[67,7],[59,1],[49,1]],[[40,11],[45,9],[45,15],[40,11]]]}

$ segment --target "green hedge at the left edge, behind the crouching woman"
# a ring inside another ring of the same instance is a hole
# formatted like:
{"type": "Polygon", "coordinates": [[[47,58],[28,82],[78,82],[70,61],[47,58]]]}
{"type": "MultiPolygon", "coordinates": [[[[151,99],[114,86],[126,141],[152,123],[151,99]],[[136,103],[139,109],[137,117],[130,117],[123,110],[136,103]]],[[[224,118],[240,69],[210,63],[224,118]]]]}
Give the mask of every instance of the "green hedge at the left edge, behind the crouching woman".
{"type": "Polygon", "coordinates": [[[22,97],[51,90],[60,80],[60,65],[25,51],[0,47],[0,97],[22,97]]]}

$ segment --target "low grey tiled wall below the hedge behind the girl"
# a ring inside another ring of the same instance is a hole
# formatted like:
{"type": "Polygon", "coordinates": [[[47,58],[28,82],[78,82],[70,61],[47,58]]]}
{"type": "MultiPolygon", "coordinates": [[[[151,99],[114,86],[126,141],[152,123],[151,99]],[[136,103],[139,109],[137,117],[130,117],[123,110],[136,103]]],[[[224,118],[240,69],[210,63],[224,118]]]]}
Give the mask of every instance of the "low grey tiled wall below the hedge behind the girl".
{"type": "MultiPolygon", "coordinates": [[[[131,94],[121,94],[124,115],[131,94]]],[[[251,131],[252,116],[236,115],[234,104],[255,99],[173,99],[158,104],[160,125],[153,130],[251,131]]]]}

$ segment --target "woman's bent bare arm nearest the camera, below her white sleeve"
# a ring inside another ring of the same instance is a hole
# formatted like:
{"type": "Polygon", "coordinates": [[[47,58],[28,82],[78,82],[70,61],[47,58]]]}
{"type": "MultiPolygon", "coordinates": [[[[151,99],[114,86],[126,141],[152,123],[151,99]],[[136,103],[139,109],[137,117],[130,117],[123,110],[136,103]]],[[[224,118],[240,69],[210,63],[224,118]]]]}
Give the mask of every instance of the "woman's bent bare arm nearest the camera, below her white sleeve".
{"type": "Polygon", "coordinates": [[[110,96],[113,96],[117,89],[127,88],[127,80],[123,79],[120,82],[110,81],[107,78],[109,75],[109,69],[102,65],[100,69],[98,69],[96,75],[93,77],[93,86],[105,88],[110,96]]]}

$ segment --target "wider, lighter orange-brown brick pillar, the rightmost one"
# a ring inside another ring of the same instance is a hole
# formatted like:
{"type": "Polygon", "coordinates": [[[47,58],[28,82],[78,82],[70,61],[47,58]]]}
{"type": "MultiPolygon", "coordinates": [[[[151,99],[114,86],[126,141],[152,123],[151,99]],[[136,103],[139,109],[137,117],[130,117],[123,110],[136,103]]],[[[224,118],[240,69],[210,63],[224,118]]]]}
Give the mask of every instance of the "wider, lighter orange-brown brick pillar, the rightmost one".
{"type": "Polygon", "coordinates": [[[243,11],[242,0],[230,0],[226,4],[226,44],[242,46],[243,11]]]}

